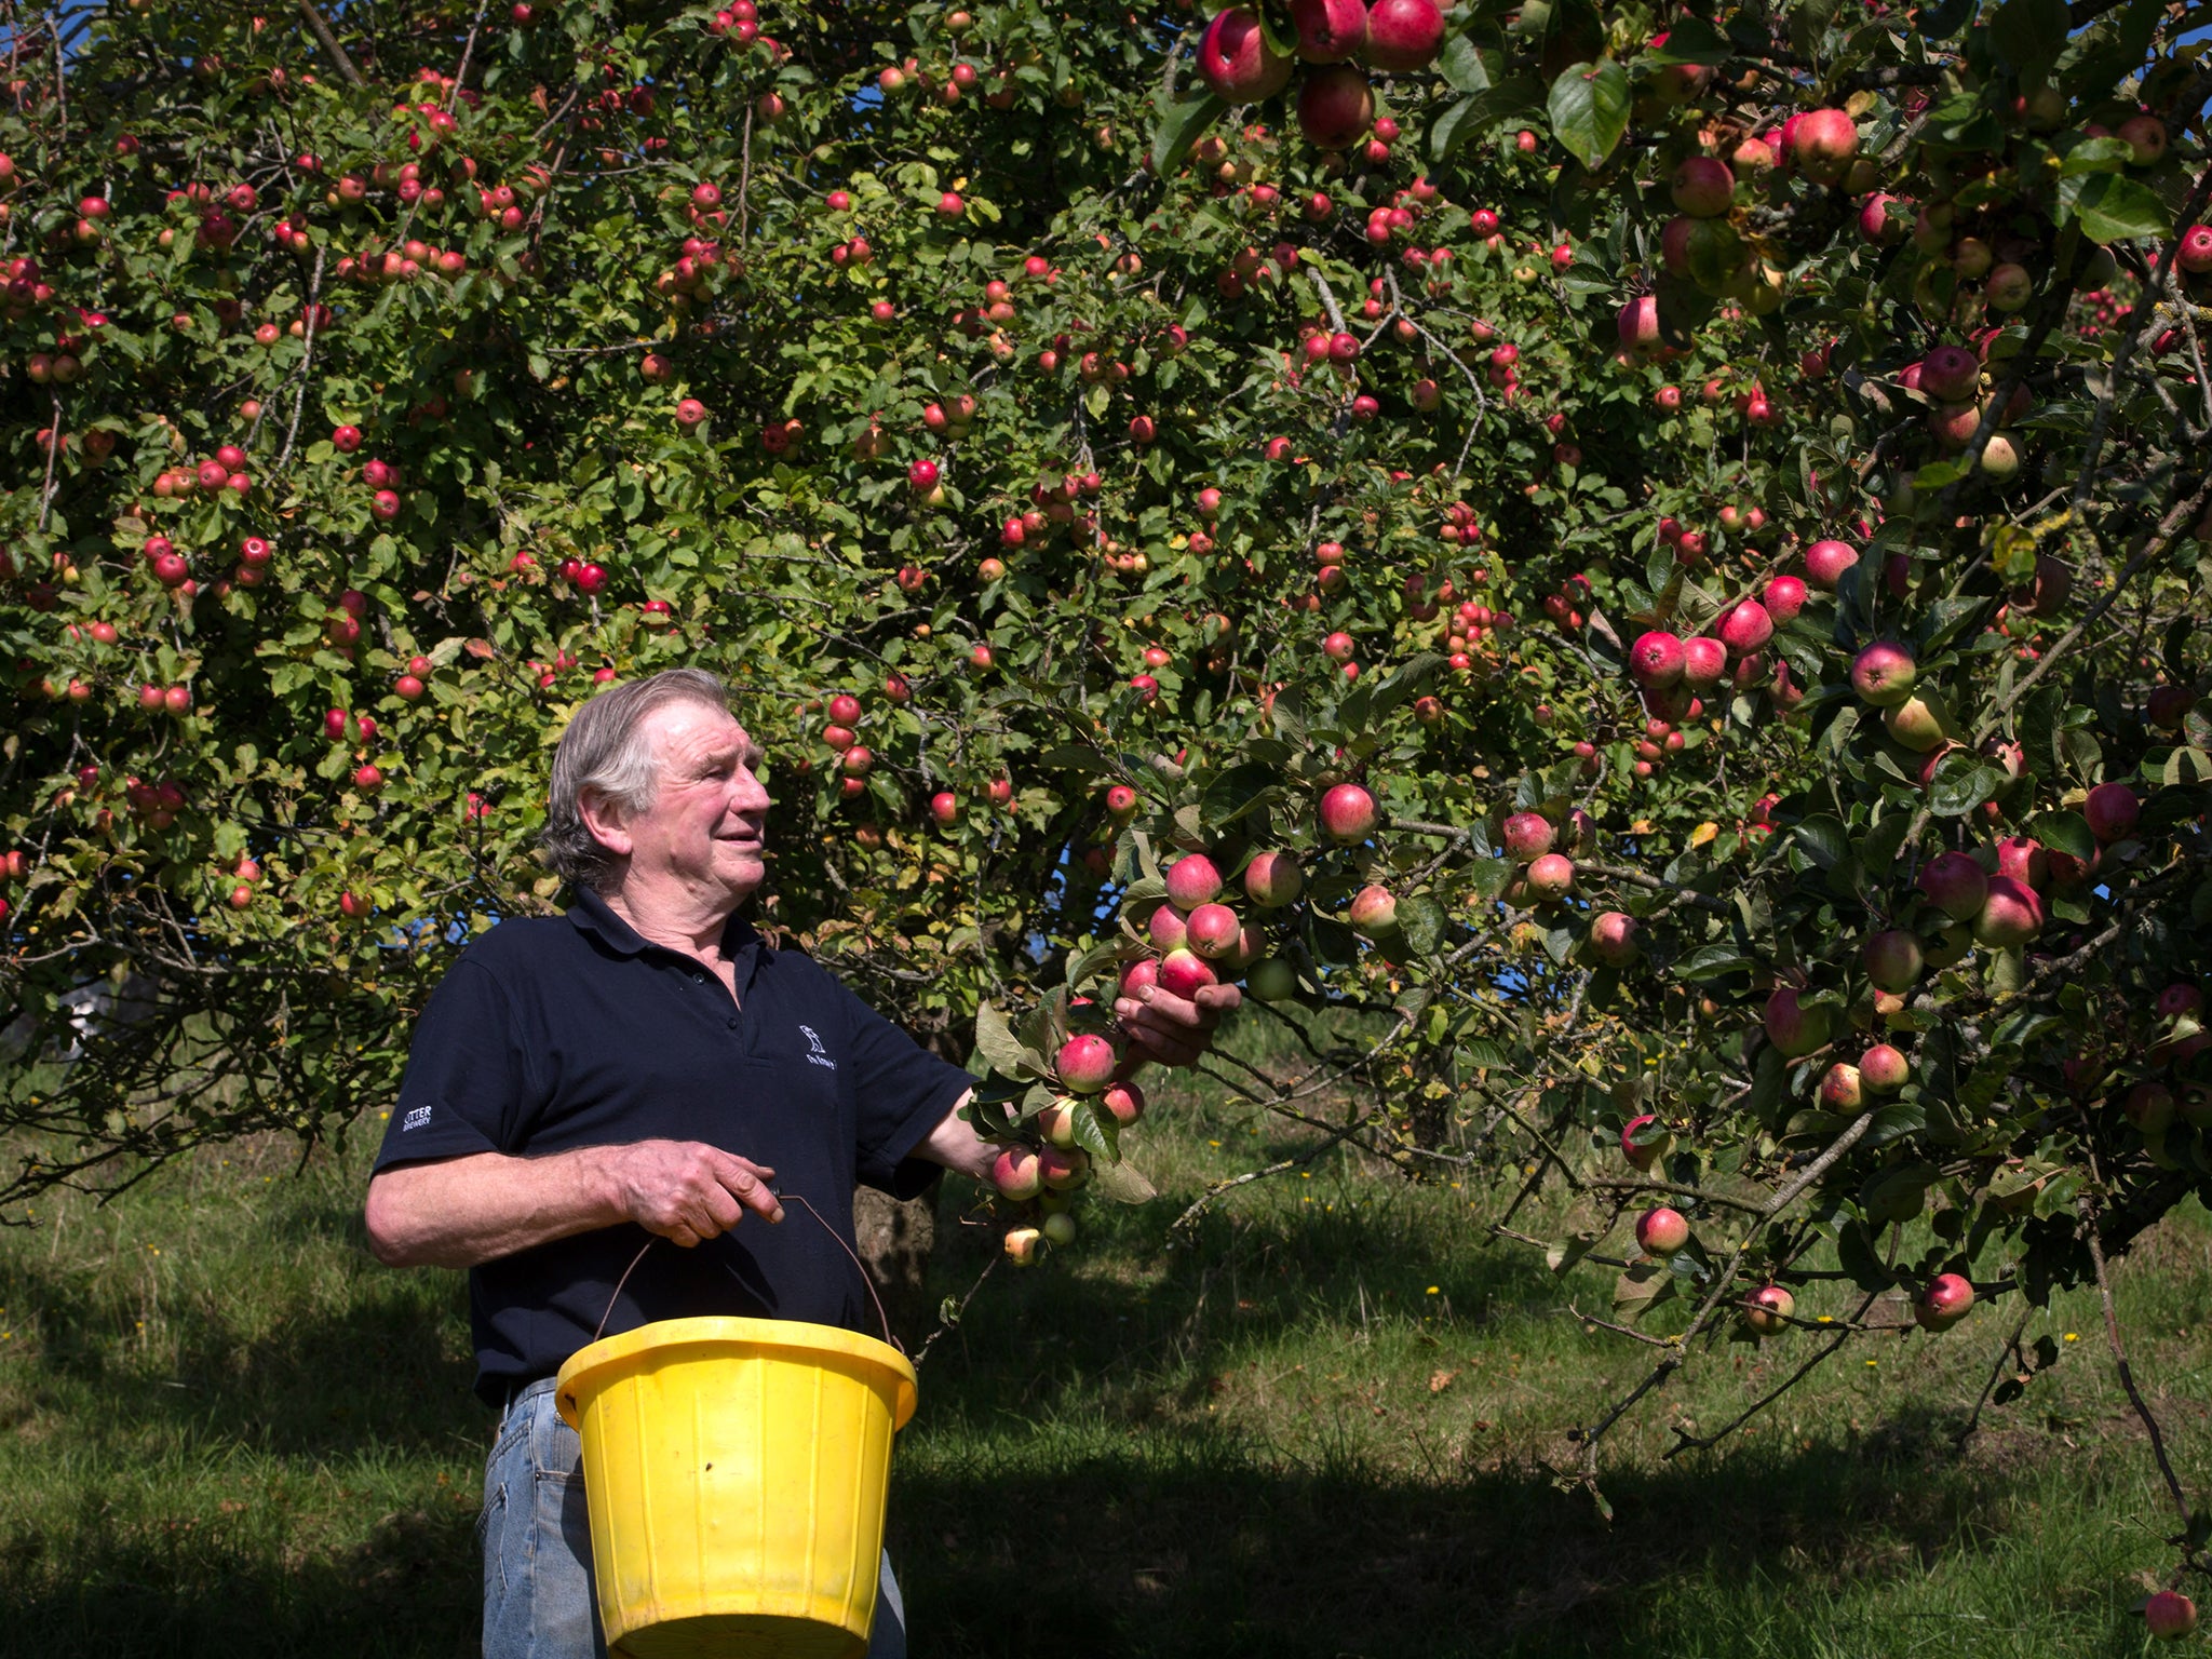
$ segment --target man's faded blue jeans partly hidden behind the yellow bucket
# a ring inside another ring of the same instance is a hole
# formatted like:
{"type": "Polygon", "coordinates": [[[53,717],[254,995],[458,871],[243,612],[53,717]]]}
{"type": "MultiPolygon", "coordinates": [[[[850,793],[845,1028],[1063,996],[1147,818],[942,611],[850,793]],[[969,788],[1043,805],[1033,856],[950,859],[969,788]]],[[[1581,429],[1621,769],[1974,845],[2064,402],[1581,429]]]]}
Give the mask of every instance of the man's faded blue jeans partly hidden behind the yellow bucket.
{"type": "MultiPolygon", "coordinates": [[[[608,1659],[591,1577],[584,1449],[553,1378],[507,1407],[484,1464],[484,1659],[608,1659]]],[[[907,1659],[907,1610],[885,1551],[867,1659],[907,1659]]]]}

